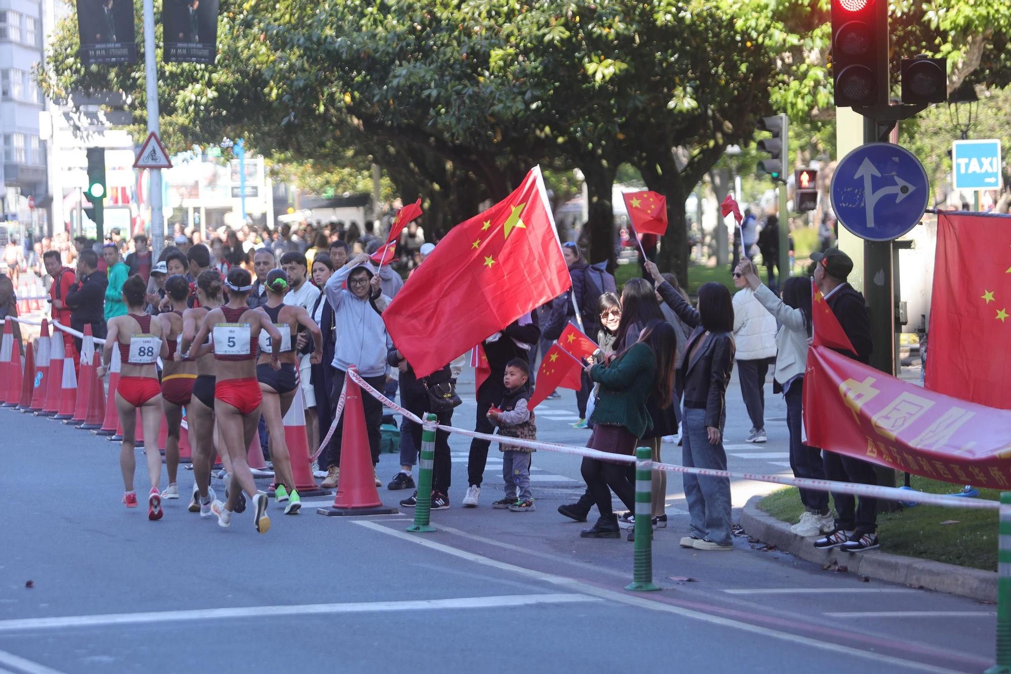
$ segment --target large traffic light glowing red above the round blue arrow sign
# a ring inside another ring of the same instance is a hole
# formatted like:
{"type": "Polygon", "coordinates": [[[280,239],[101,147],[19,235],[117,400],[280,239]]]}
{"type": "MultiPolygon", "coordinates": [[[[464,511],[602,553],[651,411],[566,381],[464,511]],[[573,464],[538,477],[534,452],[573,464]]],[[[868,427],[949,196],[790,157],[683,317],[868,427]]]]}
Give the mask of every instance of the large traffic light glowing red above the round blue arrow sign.
{"type": "Polygon", "coordinates": [[[887,105],[888,0],[831,1],[835,104],[887,105]]]}

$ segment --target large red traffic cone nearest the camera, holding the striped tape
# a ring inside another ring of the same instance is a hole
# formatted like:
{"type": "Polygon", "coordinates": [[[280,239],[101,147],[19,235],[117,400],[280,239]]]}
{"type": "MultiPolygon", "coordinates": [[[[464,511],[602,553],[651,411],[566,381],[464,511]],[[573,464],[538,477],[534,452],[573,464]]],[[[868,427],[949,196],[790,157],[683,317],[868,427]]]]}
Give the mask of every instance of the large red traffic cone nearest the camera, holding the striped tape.
{"type": "MultiPolygon", "coordinates": [[[[357,373],[355,367],[351,369],[357,373]]],[[[375,473],[372,466],[372,452],[369,450],[369,436],[365,428],[365,408],[362,406],[362,390],[351,377],[350,372],[345,382],[347,383],[347,394],[344,404],[344,434],[341,436],[341,481],[337,486],[337,496],[334,497],[334,505],[330,508],[319,508],[316,512],[320,515],[329,515],[331,517],[340,517],[343,515],[389,515],[399,512],[396,508],[383,506],[382,501],[379,500],[379,492],[376,491],[375,473]],[[370,471],[369,469],[373,470],[370,471]]],[[[295,404],[292,403],[292,409],[294,407],[295,404]]],[[[299,414],[304,415],[301,411],[299,411],[299,414]]],[[[292,443],[289,440],[289,450],[291,446],[292,443]]],[[[292,472],[294,472],[294,460],[291,461],[291,466],[292,472]]],[[[309,475],[311,476],[311,474],[309,475]]],[[[297,474],[295,482],[298,482],[297,474]]],[[[298,490],[299,494],[301,494],[301,489],[298,490]]]]}

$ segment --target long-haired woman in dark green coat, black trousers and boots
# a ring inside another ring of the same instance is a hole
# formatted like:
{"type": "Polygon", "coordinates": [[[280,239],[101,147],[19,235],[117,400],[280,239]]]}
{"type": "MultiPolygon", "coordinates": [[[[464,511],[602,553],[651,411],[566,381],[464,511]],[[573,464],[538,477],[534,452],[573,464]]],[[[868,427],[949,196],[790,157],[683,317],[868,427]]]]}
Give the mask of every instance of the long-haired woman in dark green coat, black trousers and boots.
{"type": "MultiPolygon", "coordinates": [[[[650,395],[660,408],[670,405],[674,382],[674,358],[677,339],[674,328],[663,321],[653,321],[639,335],[638,341],[605,364],[586,366],[589,377],[601,385],[593,409],[593,433],[586,443],[591,449],[631,455],[636,444],[653,425],[646,410],[650,395]]],[[[618,517],[611,508],[614,490],[629,510],[635,509],[635,488],[622,464],[596,458],[582,459],[582,479],[596,502],[600,518],[583,529],[584,538],[618,538],[618,517]],[[610,488],[610,489],[609,489],[610,488]]]]}

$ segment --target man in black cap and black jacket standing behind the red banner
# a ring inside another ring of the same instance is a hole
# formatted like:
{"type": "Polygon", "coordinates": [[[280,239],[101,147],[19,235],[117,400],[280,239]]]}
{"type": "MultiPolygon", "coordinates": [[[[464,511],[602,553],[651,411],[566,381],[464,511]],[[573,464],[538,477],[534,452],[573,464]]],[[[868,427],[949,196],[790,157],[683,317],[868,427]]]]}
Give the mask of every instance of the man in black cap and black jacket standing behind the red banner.
{"type": "MultiPolygon", "coordinates": [[[[815,284],[829,309],[835,314],[849,342],[856,349],[834,349],[862,363],[870,362],[870,320],[863,296],[846,282],[853,270],[853,261],[838,248],[824,253],[812,253],[815,262],[815,284]]],[[[824,451],[825,477],[837,482],[877,485],[875,467],[860,458],[824,451]]],[[[839,546],[850,553],[878,547],[878,499],[861,496],[856,504],[852,494],[832,494],[838,518],[835,530],[815,541],[815,547],[827,550],[839,546]]]]}

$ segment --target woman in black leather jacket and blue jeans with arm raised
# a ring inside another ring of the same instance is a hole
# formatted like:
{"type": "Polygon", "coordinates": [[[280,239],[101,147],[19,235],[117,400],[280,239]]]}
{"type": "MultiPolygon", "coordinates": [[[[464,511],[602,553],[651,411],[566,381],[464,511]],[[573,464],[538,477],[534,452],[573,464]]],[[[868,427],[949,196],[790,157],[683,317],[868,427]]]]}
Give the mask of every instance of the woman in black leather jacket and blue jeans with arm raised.
{"type": "MultiPolygon", "coordinates": [[[[681,374],[684,381],[684,425],[681,464],[727,470],[723,426],[727,420],[727,385],[734,368],[734,306],[730,291],[717,282],[699,288],[699,309],[692,308],[656,265],[646,269],[658,283],[657,291],[677,317],[695,328],[688,338],[681,374]]],[[[730,480],[684,474],[684,498],[692,516],[692,532],[681,547],[733,550],[730,531],[730,480]]]]}

